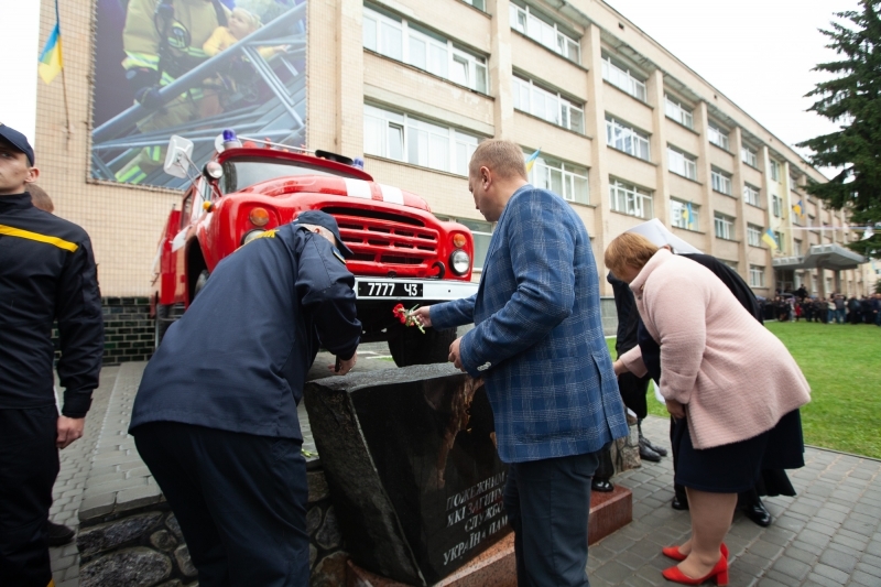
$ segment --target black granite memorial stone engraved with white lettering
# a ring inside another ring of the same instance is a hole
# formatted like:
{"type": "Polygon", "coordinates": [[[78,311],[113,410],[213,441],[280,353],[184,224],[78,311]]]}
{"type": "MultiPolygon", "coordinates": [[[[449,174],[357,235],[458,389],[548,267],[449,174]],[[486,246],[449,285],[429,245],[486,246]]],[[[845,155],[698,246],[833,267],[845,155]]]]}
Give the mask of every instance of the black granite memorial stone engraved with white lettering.
{"type": "Polygon", "coordinates": [[[482,381],[414,366],[312,381],[304,400],[359,566],[431,585],[509,532],[482,381]]]}

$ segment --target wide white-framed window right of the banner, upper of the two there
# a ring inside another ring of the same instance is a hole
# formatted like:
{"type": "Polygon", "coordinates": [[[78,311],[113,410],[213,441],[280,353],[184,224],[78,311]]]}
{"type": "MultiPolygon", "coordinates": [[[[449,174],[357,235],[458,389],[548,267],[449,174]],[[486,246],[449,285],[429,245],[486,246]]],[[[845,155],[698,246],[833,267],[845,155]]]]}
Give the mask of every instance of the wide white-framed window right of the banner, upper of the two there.
{"type": "Polygon", "coordinates": [[[365,48],[487,94],[487,59],[391,13],[365,7],[365,48]]]}

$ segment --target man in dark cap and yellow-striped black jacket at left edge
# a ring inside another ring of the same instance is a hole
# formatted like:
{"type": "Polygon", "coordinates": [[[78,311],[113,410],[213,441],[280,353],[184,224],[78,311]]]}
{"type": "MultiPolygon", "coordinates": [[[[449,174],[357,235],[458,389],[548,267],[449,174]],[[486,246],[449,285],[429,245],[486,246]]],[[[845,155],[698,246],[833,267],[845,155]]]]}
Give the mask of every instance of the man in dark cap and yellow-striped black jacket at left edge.
{"type": "Polygon", "coordinates": [[[28,139],[0,123],[0,585],[17,587],[52,580],[47,523],[58,448],[83,436],[104,354],[89,237],[33,206],[28,186],[39,175],[28,139]]]}

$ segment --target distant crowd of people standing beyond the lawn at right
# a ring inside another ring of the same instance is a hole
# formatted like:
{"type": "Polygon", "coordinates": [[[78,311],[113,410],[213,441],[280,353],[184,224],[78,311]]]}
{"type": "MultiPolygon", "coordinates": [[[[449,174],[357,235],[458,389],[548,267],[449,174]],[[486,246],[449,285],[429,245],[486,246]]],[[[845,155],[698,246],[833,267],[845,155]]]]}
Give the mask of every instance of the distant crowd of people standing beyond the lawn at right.
{"type": "Polygon", "coordinates": [[[833,294],[827,298],[811,295],[802,286],[794,293],[776,292],[774,298],[762,302],[766,319],[779,322],[820,322],[823,324],[873,324],[881,326],[881,293],[847,297],[833,294]]]}

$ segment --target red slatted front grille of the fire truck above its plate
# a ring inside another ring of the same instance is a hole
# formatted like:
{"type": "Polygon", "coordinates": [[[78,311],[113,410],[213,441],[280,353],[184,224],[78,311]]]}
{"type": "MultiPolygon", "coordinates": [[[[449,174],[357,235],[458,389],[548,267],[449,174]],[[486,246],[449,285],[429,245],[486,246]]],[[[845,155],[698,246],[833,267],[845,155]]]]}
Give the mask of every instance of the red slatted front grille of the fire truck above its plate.
{"type": "Polygon", "coordinates": [[[429,267],[437,258],[437,230],[407,216],[325,208],[339,225],[342,241],[362,262],[429,267]]]}

